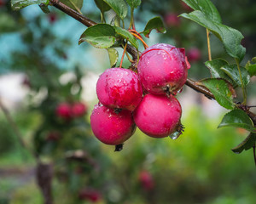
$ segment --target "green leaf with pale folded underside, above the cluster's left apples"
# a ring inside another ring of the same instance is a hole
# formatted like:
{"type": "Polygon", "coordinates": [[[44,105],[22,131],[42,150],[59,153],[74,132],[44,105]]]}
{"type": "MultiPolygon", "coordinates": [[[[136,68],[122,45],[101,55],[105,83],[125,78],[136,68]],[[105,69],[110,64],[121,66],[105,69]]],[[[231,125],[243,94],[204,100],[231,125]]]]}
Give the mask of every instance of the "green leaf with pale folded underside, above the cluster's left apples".
{"type": "Polygon", "coordinates": [[[97,24],[87,28],[79,39],[79,44],[89,42],[96,48],[109,48],[115,42],[115,31],[108,24],[97,24]]]}

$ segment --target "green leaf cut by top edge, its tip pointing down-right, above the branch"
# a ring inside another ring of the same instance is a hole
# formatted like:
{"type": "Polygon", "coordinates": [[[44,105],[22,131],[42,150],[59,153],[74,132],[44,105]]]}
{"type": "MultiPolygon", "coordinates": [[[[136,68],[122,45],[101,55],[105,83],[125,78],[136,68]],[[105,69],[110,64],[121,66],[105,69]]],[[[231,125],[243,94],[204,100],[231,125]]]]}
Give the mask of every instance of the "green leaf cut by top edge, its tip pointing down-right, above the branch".
{"type": "Polygon", "coordinates": [[[113,9],[113,11],[119,15],[121,20],[125,19],[125,16],[128,12],[128,7],[125,3],[125,0],[104,0],[104,2],[108,3],[108,5],[113,9]]]}

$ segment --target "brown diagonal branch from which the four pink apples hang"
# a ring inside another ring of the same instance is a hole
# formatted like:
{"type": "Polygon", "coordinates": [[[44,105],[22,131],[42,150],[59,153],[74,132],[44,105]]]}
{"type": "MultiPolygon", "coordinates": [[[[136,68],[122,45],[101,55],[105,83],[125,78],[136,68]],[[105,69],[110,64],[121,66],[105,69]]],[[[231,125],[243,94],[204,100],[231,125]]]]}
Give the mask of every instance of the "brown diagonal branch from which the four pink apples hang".
{"type": "MultiPolygon", "coordinates": [[[[49,0],[49,3],[53,5],[55,8],[60,9],[65,14],[68,14],[74,19],[78,20],[80,23],[84,24],[84,26],[90,27],[96,25],[96,22],[86,18],[82,14],[79,14],[72,8],[67,7],[67,5],[61,3],[59,0],[49,0]]],[[[134,60],[137,59],[138,51],[136,48],[132,47],[130,44],[127,44],[126,50],[129,54],[131,54],[134,60]]],[[[140,54],[141,53],[139,53],[139,55],[140,54]]],[[[198,84],[196,84],[196,82],[194,82],[191,79],[187,79],[186,85],[194,89],[196,92],[204,94],[208,99],[215,99],[214,95],[207,88],[199,86],[198,84]]],[[[248,109],[245,109],[244,106],[241,105],[238,105],[237,107],[242,111],[245,111],[247,115],[253,120],[253,124],[256,125],[256,115],[253,112],[249,111],[248,109]]]]}

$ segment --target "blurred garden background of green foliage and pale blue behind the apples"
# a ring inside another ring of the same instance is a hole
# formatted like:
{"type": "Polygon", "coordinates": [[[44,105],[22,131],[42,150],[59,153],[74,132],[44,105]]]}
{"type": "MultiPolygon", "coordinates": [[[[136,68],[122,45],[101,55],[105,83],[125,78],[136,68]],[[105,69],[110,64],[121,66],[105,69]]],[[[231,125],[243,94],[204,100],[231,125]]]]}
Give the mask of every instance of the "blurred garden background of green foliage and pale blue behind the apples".
{"type": "MultiPolygon", "coordinates": [[[[245,37],[245,65],[256,56],[256,2],[212,2],[224,24],[245,37]]],[[[8,0],[0,0],[0,204],[39,204],[44,197],[61,204],[256,203],[253,150],[231,151],[247,131],[217,129],[226,111],[190,88],[177,96],[185,127],[177,140],[153,139],[137,129],[120,152],[99,142],[90,130],[90,112],[97,103],[96,80],[110,67],[108,52],[79,45],[86,28],[49,9],[50,14],[37,5],[12,11],[8,0]]],[[[166,34],[152,31],[146,42],[186,48],[189,78],[199,80],[210,77],[204,65],[207,37],[202,27],[177,18],[189,11],[179,0],[143,0],[135,22],[143,31],[160,16],[166,34]]],[[[94,1],[84,1],[82,12],[100,22],[94,1]]],[[[113,12],[106,17],[109,22],[113,12]]],[[[231,61],[216,37],[211,42],[212,58],[231,61]]],[[[127,59],[123,66],[129,66],[127,59]]],[[[256,105],[255,91],[252,78],[248,105],[256,105]]]]}

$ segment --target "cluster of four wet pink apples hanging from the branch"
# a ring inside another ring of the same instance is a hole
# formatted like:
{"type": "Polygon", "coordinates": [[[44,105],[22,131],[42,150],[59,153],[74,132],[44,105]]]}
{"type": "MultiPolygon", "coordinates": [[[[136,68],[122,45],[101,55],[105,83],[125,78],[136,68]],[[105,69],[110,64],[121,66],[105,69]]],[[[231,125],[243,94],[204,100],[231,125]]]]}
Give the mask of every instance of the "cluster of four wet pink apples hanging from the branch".
{"type": "Polygon", "coordinates": [[[182,109],[175,95],[189,68],[184,48],[160,43],[143,51],[137,73],[123,68],[104,71],[96,83],[99,104],[90,116],[96,138],[122,144],[136,127],[154,138],[180,133],[182,109]]]}

